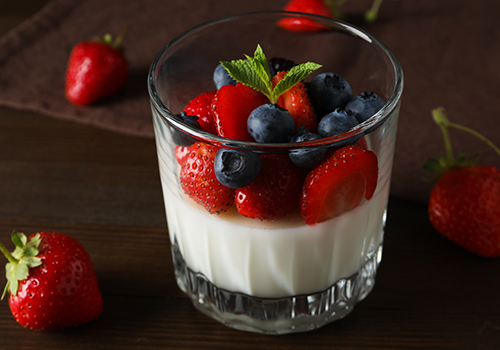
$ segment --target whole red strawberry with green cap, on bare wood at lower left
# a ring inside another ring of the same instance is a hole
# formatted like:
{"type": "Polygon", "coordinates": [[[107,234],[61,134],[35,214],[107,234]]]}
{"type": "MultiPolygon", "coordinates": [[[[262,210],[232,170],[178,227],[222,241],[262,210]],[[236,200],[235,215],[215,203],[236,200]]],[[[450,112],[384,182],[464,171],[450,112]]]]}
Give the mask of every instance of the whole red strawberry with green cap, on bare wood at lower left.
{"type": "Polygon", "coordinates": [[[14,232],[16,245],[6,267],[9,305],[24,327],[44,330],[78,326],[103,310],[101,292],[85,248],[74,238],[41,232],[26,238],[14,232]]]}

